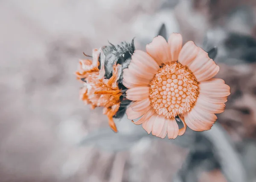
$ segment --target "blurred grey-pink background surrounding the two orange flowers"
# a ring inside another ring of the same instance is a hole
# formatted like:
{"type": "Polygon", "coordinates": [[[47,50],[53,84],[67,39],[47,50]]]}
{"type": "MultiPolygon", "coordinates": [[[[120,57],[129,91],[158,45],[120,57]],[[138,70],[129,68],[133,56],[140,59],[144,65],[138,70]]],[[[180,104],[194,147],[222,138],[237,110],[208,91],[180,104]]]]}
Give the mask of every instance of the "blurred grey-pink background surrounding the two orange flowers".
{"type": "Polygon", "coordinates": [[[255,0],[1,0],[0,182],[256,182],[255,0]],[[210,131],[119,133],[79,100],[83,51],[179,32],[231,87],[210,131]]]}

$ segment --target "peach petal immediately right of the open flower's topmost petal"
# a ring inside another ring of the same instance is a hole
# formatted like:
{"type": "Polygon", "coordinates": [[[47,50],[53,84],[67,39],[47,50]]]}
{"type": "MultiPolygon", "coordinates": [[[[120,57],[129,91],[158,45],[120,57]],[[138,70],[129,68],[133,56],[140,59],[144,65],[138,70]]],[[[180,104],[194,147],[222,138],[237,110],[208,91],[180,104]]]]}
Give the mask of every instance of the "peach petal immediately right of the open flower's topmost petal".
{"type": "Polygon", "coordinates": [[[198,55],[199,48],[195,45],[193,41],[188,41],[185,45],[181,48],[178,62],[182,65],[188,65],[191,63],[195,57],[198,55]]]}

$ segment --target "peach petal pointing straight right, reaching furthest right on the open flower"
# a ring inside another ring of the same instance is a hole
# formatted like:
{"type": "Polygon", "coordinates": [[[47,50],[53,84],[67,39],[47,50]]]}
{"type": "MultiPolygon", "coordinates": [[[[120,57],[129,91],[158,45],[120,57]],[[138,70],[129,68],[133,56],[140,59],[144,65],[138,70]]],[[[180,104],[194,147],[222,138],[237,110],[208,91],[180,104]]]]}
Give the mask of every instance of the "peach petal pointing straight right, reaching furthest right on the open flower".
{"type": "Polygon", "coordinates": [[[230,95],[230,86],[221,79],[210,79],[201,82],[199,92],[210,97],[227,97],[230,95]]]}

